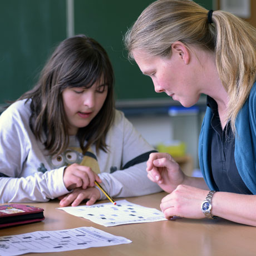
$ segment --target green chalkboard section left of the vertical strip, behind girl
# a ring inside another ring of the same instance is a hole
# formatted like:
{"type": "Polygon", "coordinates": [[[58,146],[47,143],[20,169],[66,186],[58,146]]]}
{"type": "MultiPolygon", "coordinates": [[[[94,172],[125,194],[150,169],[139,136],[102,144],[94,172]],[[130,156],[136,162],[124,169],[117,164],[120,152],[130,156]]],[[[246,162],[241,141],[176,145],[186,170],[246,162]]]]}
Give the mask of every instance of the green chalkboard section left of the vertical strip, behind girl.
{"type": "Polygon", "coordinates": [[[66,1],[0,0],[0,104],[32,88],[66,37],[66,1]]]}

